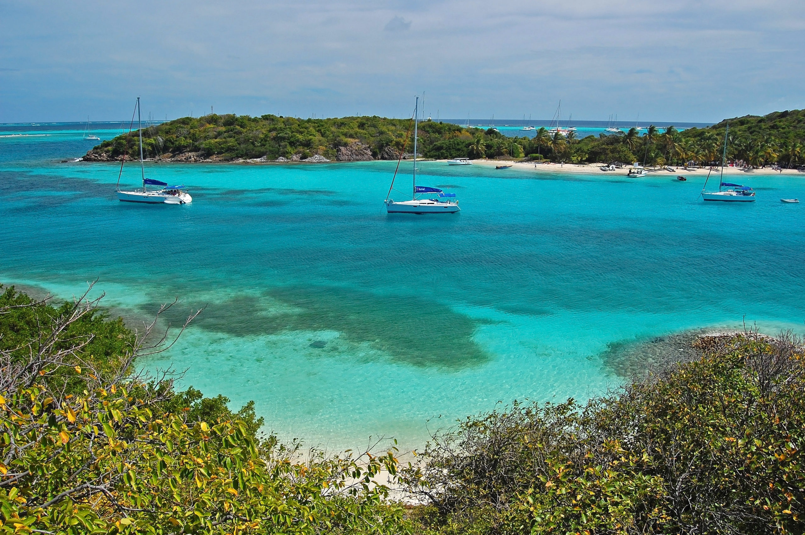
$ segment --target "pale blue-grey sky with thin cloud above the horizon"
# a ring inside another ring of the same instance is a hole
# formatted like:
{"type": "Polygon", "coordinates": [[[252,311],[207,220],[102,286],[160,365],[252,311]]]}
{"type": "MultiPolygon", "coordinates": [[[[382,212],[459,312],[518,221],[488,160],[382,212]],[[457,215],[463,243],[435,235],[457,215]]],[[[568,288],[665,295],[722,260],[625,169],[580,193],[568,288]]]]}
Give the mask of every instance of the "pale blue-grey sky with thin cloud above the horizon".
{"type": "Polygon", "coordinates": [[[0,122],[715,122],[805,108],[803,0],[0,0],[0,122]]]}

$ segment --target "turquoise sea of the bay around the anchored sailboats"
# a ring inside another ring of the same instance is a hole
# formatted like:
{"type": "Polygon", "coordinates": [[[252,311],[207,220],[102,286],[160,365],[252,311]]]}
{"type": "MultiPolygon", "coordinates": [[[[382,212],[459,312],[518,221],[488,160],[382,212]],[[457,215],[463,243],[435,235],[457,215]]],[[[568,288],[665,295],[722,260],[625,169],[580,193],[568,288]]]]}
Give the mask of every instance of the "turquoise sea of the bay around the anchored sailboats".
{"type": "Polygon", "coordinates": [[[803,331],[805,204],[780,198],[805,199],[805,177],[751,175],[758,202],[730,205],[698,199],[701,172],[420,163],[419,183],[462,207],[428,217],[386,215],[389,162],[149,163],[193,202],[141,206],[116,200],[118,165],[70,161],[92,146],[83,127],[43,129],[0,127],[38,134],[0,138],[0,282],[69,298],[98,278],[132,323],[175,296],[174,323],[205,307],[140,364],[254,399],[281,438],[418,447],[498,401],[618,385],[617,348],[744,321],[803,331]]]}

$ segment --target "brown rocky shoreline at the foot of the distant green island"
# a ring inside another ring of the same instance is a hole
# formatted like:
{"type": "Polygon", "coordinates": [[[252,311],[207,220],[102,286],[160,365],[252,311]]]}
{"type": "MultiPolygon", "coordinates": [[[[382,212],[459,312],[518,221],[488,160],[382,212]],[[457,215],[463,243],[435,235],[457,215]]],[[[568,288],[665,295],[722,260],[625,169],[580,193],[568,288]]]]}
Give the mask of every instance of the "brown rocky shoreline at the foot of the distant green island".
{"type": "MultiPolygon", "coordinates": [[[[417,154],[422,158],[422,154],[417,154]]],[[[336,162],[374,162],[376,160],[396,160],[400,157],[400,152],[387,146],[375,158],[372,154],[372,149],[368,145],[361,142],[353,142],[347,146],[339,146],[336,148],[336,162]]],[[[414,154],[404,153],[403,159],[412,159],[414,154]]],[[[120,162],[123,157],[111,157],[108,152],[101,150],[88,150],[82,158],[81,162],[120,162]]],[[[127,158],[131,159],[131,158],[127,158]]],[[[183,152],[180,154],[162,154],[158,158],[146,158],[148,162],[171,162],[171,163],[288,163],[288,162],[305,162],[305,163],[329,163],[332,160],[324,158],[321,154],[313,154],[308,158],[302,158],[302,154],[291,154],[291,158],[284,158],[280,156],[276,159],[269,159],[263,156],[262,158],[234,158],[225,159],[217,154],[205,156],[201,152],[183,152]]]]}

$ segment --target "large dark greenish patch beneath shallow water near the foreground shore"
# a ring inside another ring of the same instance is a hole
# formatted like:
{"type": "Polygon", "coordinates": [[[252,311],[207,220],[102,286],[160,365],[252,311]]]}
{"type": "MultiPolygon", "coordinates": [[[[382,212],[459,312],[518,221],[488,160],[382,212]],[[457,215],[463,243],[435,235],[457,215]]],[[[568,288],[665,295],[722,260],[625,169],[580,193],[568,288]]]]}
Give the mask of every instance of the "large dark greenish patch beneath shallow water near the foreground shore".
{"type": "MultiPolygon", "coordinates": [[[[395,361],[422,368],[467,368],[490,358],[473,340],[479,322],[430,299],[332,286],[285,286],[264,296],[211,303],[194,325],[232,336],[339,331],[352,343],[369,344],[395,361]],[[283,306],[272,307],[272,301],[283,306]]],[[[151,310],[154,304],[144,307],[151,310]]],[[[186,317],[185,310],[170,312],[172,324],[186,317]]]]}

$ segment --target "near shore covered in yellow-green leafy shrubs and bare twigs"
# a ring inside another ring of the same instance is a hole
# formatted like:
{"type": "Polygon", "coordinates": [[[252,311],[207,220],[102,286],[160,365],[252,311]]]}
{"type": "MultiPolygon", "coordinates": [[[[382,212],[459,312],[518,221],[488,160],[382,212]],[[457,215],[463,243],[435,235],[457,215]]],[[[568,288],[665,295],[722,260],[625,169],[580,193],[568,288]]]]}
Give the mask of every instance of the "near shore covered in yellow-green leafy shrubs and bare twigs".
{"type": "Polygon", "coordinates": [[[603,397],[466,418],[403,464],[393,444],[299,455],[253,404],[142,375],[136,360],[175,335],[98,305],[0,294],[2,533],[805,531],[790,333],[698,336],[687,360],[603,397]]]}

